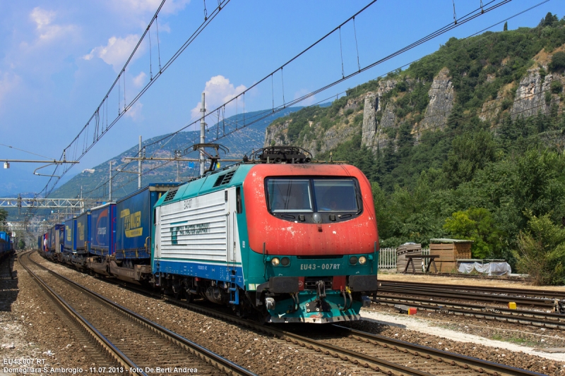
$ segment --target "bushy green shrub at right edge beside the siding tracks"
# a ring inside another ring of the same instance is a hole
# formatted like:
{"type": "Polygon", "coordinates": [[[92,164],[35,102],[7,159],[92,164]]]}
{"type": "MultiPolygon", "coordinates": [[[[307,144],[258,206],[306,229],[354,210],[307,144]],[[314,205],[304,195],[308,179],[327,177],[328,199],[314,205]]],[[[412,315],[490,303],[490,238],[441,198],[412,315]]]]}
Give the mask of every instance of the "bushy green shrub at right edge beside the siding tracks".
{"type": "Polygon", "coordinates": [[[518,236],[518,272],[528,274],[537,285],[565,284],[565,229],[549,214],[532,216],[528,230],[518,236]]]}

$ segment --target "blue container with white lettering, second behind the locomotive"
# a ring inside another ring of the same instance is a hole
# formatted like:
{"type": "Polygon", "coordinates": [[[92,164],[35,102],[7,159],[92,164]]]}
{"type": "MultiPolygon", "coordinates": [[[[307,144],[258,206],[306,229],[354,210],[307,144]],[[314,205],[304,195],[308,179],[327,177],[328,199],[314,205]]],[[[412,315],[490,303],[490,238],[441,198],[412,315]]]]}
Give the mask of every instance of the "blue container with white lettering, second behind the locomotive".
{"type": "Polygon", "coordinates": [[[113,255],[116,241],[116,204],[90,210],[90,253],[113,255]]]}

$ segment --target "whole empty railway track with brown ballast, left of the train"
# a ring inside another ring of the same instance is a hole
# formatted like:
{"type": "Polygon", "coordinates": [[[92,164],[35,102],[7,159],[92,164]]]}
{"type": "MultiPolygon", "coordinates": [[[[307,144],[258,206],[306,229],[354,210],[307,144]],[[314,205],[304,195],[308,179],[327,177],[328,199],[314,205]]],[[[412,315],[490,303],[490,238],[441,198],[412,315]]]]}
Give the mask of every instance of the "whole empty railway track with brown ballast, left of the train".
{"type": "Polygon", "coordinates": [[[20,256],[20,263],[51,296],[64,305],[69,314],[81,322],[100,346],[112,354],[112,358],[119,363],[116,373],[184,375],[190,372],[189,369],[196,369],[199,375],[255,375],[207,348],[52,272],[29,256],[30,253],[20,256]],[[44,279],[48,280],[49,286],[44,279]],[[175,368],[177,372],[174,372],[175,368]]]}

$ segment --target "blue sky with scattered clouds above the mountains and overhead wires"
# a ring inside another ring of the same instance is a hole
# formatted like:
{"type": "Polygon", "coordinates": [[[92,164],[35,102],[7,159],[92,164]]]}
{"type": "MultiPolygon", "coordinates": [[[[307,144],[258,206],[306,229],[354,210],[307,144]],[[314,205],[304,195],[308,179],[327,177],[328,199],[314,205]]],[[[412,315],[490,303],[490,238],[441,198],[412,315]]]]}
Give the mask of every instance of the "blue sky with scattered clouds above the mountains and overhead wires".
{"type": "MultiPolygon", "coordinates": [[[[335,97],[348,87],[432,53],[449,37],[466,37],[538,2],[513,0],[298,105],[335,97]]],[[[191,123],[198,115],[201,92],[207,92],[208,109],[218,107],[368,3],[231,0],[81,163],[71,169],[71,174],[92,168],[136,145],[139,135],[145,140],[191,123]]],[[[159,0],[0,1],[0,143],[58,159],[102,101],[159,4],[159,0]]],[[[217,5],[218,0],[207,0],[208,14],[217,5]]],[[[479,0],[456,0],[456,14],[463,16],[479,5],[479,0]]],[[[162,64],[203,22],[203,6],[201,0],[165,2],[157,21],[162,64]]],[[[548,11],[561,18],[564,15],[559,12],[563,9],[563,0],[551,0],[513,18],[509,28],[533,27],[548,11]]],[[[357,71],[357,48],[363,67],[450,22],[452,0],[379,0],[355,19],[355,30],[352,23],[341,30],[344,73],[357,71]]],[[[493,31],[501,28],[499,25],[493,31]]],[[[158,71],[155,25],[151,37],[152,48],[149,49],[146,38],[126,70],[128,102],[148,83],[150,51],[153,74],[158,71]]],[[[317,90],[341,77],[341,64],[336,33],[285,68],[282,78],[280,73],[274,75],[272,86],[268,80],[251,90],[246,95],[245,109],[266,109],[273,101],[275,106],[282,104],[283,83],[285,102],[317,90]]],[[[120,97],[123,86],[121,90],[120,97]]],[[[118,102],[115,92],[108,99],[110,119],[124,105],[123,98],[118,102]]],[[[226,114],[235,111],[235,106],[227,107],[226,114]]],[[[242,111],[242,102],[238,102],[237,111],[242,111]]],[[[0,158],[39,157],[0,145],[0,158]]],[[[0,170],[0,180],[10,179],[15,176],[11,174],[22,170],[32,176],[38,166],[12,164],[12,169],[0,170]]],[[[47,183],[47,178],[33,178],[41,188],[47,183]]]]}

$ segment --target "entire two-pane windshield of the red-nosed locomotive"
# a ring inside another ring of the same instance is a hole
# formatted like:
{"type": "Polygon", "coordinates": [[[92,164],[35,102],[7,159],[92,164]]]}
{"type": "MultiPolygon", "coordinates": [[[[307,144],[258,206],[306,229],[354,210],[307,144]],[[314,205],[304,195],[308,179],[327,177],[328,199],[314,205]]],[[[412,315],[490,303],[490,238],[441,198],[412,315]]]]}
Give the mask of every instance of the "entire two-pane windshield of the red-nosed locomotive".
{"type": "Polygon", "coordinates": [[[268,178],[267,202],[276,212],[358,212],[350,178],[268,178]]]}

